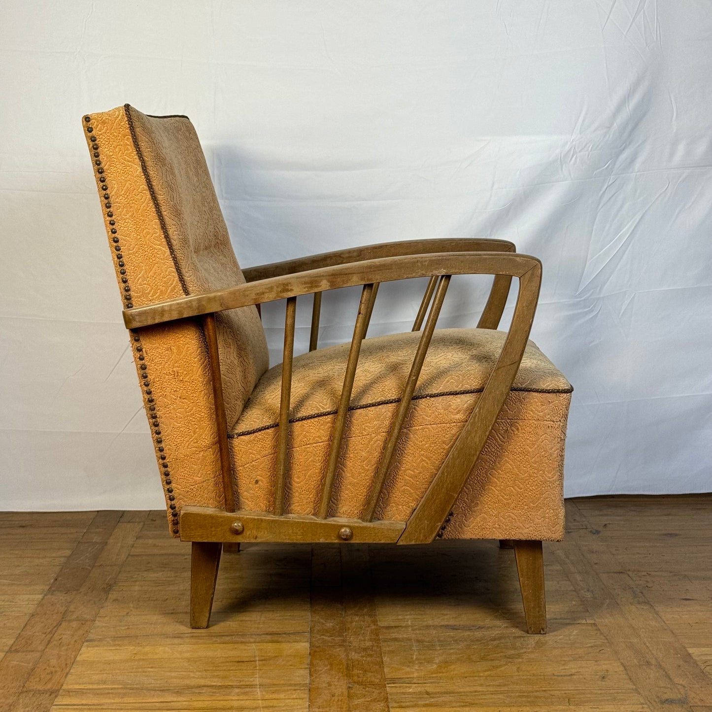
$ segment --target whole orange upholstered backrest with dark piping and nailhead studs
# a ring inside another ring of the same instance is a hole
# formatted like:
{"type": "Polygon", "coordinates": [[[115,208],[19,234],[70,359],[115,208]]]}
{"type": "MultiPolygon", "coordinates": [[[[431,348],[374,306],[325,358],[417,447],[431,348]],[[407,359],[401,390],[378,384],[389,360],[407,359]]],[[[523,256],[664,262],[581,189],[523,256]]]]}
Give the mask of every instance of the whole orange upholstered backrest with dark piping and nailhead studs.
{"type": "MultiPolygon", "coordinates": [[[[129,105],[87,115],[88,141],[125,308],[244,283],[200,143],[184,116],[129,105]]],[[[268,367],[254,307],[216,317],[229,424],[268,367]]],[[[174,535],[184,504],[223,506],[201,326],[133,332],[131,345],[174,535]]]]}

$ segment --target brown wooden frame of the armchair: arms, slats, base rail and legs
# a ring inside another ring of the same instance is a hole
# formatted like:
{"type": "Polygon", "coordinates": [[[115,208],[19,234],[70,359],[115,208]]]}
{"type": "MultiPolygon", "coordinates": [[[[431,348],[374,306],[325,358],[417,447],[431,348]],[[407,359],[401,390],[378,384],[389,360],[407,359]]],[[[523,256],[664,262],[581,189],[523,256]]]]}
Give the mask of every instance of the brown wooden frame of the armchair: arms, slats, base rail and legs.
{"type": "MultiPolygon", "coordinates": [[[[123,312],[125,325],[130,330],[140,330],[174,320],[200,320],[208,345],[225,507],[221,510],[184,506],[180,512],[181,538],[192,542],[192,627],[206,627],[209,623],[223,543],[419,544],[429,543],[442,535],[442,529],[449,522],[456,498],[472,471],[518,371],[537,305],[541,263],[537,258],[515,253],[514,245],[508,241],[440,239],[394,242],[323,253],[253,267],[245,270],[244,275],[246,283],[234,288],[134,307],[123,312]],[[392,463],[451,276],[461,274],[494,276],[491,293],[478,322],[478,328],[488,329],[498,327],[511,280],[513,277],[518,279],[518,297],[508,335],[476,407],[412,515],[404,522],[374,520],[379,496],[392,463]],[[419,277],[429,277],[413,326],[414,331],[422,330],[422,336],[365,511],[359,519],[329,517],[329,504],[361,343],[367,332],[378,286],[382,282],[419,277]],[[333,425],[318,515],[284,513],[296,300],[301,295],[314,295],[310,333],[310,350],[314,350],[318,342],[322,293],[357,285],[362,286],[362,294],[333,425]],[[215,313],[280,299],[286,299],[286,321],[278,419],[276,505],[273,512],[235,511],[236,498],[223,402],[215,313]]],[[[545,632],[541,543],[515,542],[514,548],[528,632],[545,632]]]]}

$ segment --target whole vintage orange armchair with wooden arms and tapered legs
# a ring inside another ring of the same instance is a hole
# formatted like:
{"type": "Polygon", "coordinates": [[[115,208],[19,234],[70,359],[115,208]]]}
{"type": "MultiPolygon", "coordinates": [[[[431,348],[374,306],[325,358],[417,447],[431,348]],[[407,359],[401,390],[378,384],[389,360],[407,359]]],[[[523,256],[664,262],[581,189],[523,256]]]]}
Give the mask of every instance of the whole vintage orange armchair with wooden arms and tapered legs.
{"type": "Polygon", "coordinates": [[[542,540],[563,535],[572,388],[528,340],[540,262],[432,239],[241,271],[187,117],[83,117],[172,535],[192,543],[192,627],[224,544],[513,540],[527,629],[545,632],[542,540]],[[436,322],[453,276],[493,275],[477,328],[436,322]],[[410,333],[367,338],[379,284],[428,277],[410,333]],[[513,319],[497,330],[512,278],[513,319]],[[322,295],[362,286],[350,344],[318,348],[322,295]],[[313,294],[309,351],[296,302],[313,294]],[[258,306],[286,300],[268,367],[258,306]]]}

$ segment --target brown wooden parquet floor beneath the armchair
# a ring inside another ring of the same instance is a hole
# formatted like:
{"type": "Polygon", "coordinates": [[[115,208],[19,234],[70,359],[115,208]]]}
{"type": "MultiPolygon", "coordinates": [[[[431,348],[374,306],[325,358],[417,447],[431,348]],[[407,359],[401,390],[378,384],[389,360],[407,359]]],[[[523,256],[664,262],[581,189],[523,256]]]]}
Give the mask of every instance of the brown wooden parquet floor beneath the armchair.
{"type": "Polygon", "coordinates": [[[567,528],[546,636],[493,541],[246,547],[190,630],[163,513],[0,513],[0,710],[712,712],[712,495],[567,528]]]}

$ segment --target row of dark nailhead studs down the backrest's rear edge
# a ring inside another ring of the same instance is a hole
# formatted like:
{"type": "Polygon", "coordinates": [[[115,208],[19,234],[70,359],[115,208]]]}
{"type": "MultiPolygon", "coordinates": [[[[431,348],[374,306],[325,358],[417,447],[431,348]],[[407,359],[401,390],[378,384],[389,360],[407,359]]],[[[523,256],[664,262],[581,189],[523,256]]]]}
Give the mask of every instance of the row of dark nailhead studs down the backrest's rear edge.
{"type": "MultiPolygon", "coordinates": [[[[116,220],[114,217],[114,213],[112,211],[111,196],[110,196],[108,189],[106,187],[106,177],[104,175],[104,168],[103,168],[102,162],[101,162],[98,137],[94,133],[94,127],[91,125],[91,117],[85,116],[84,121],[85,121],[85,128],[86,128],[86,131],[89,135],[90,142],[91,142],[91,150],[92,150],[92,156],[94,158],[95,172],[97,174],[97,179],[98,179],[98,184],[99,184],[99,192],[102,194],[103,199],[105,201],[104,209],[106,211],[106,216],[109,221],[109,233],[110,233],[111,244],[114,248],[114,256],[116,258],[116,263],[117,263],[118,270],[119,270],[120,280],[121,280],[121,284],[123,286],[122,297],[125,300],[126,308],[132,309],[133,302],[132,302],[132,298],[131,298],[131,286],[129,284],[129,279],[126,275],[126,264],[124,261],[124,256],[121,251],[121,244],[120,244],[120,239],[118,236],[118,229],[116,227],[116,220]]],[[[168,461],[166,459],[166,455],[164,453],[161,426],[160,426],[160,422],[158,419],[158,413],[156,410],[155,399],[153,397],[153,391],[151,389],[151,382],[148,377],[147,366],[144,363],[145,355],[143,353],[141,337],[137,333],[133,334],[132,347],[134,349],[135,360],[139,364],[141,387],[142,387],[142,391],[145,393],[145,396],[146,396],[146,403],[145,403],[146,412],[148,414],[149,422],[152,427],[154,445],[155,445],[155,449],[156,449],[157,456],[159,459],[162,475],[164,478],[164,489],[166,492],[166,496],[168,498],[168,507],[169,507],[169,511],[171,514],[172,530],[173,530],[174,534],[178,534],[179,533],[178,512],[177,512],[177,507],[176,507],[176,503],[175,503],[175,495],[173,493],[173,481],[171,479],[171,471],[168,466],[168,461]]]]}

